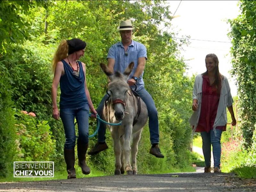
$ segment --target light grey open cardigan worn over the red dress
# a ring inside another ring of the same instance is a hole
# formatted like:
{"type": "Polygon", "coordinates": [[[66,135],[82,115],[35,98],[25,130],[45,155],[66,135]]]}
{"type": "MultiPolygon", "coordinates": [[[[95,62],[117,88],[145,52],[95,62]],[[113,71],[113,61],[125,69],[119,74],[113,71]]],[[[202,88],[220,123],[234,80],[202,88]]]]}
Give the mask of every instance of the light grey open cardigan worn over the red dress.
{"type": "MultiPolygon", "coordinates": [[[[193,126],[193,133],[196,131],[196,127],[200,117],[201,103],[202,103],[202,85],[203,85],[203,75],[199,74],[196,76],[194,87],[193,87],[193,99],[198,100],[197,111],[194,111],[189,119],[189,123],[193,126]]],[[[223,76],[222,85],[220,89],[220,100],[217,109],[217,115],[213,124],[213,131],[216,134],[217,126],[224,126],[227,124],[227,110],[226,107],[230,107],[233,103],[233,98],[230,93],[230,87],[228,84],[228,78],[223,76]]]]}

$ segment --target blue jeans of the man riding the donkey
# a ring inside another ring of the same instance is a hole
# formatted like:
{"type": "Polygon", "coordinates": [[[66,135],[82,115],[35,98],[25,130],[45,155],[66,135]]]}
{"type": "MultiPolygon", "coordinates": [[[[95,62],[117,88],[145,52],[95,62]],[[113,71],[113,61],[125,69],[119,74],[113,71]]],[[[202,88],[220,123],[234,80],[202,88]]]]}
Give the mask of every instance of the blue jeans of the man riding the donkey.
{"type": "MultiPolygon", "coordinates": [[[[158,115],[155,103],[151,97],[151,95],[147,92],[147,90],[143,87],[137,93],[140,95],[141,99],[145,102],[148,108],[148,117],[149,117],[149,132],[150,132],[150,141],[151,144],[159,143],[159,126],[158,126],[158,115]]],[[[102,118],[102,111],[105,100],[108,98],[106,94],[103,99],[100,101],[100,105],[97,108],[97,112],[102,118]]],[[[100,123],[100,128],[98,131],[98,142],[105,142],[105,134],[106,134],[106,125],[104,123],[100,123]]]]}

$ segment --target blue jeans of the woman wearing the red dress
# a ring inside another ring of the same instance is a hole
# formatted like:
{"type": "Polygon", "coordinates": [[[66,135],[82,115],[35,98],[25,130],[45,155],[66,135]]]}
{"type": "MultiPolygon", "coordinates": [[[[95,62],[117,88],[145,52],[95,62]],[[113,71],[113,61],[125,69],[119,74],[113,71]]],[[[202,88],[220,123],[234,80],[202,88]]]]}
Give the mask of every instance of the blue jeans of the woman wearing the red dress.
{"type": "Polygon", "coordinates": [[[216,136],[214,131],[210,132],[201,132],[202,140],[203,140],[203,153],[204,153],[204,162],[205,166],[211,166],[211,144],[212,144],[212,153],[213,153],[213,161],[214,167],[220,168],[220,137],[222,130],[216,129],[216,136]]]}

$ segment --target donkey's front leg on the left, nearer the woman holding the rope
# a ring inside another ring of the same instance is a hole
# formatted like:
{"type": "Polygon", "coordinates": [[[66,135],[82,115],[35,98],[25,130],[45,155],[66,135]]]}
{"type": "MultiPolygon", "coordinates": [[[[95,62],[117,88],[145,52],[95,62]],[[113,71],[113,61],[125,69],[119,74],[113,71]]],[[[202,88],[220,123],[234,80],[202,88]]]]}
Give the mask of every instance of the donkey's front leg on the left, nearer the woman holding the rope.
{"type": "Polygon", "coordinates": [[[118,137],[118,130],[115,130],[112,132],[112,138],[113,138],[113,143],[114,143],[114,152],[115,152],[115,157],[116,157],[116,170],[115,170],[115,175],[121,175],[121,144],[119,141],[118,137]]]}

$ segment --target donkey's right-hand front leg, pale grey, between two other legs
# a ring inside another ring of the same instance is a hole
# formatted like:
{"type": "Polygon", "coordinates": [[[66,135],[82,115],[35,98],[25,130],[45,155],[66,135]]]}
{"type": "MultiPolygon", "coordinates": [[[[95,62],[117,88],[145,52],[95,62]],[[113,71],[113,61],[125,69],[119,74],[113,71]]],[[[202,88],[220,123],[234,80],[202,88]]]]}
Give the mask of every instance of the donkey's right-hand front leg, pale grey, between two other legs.
{"type": "Polygon", "coordinates": [[[131,125],[125,125],[123,153],[124,153],[124,167],[125,167],[125,171],[128,175],[132,175],[132,166],[131,166],[131,163],[130,163],[130,155],[131,155],[130,140],[131,140],[131,136],[132,136],[132,124],[131,125]]]}

